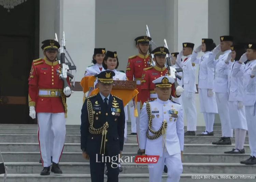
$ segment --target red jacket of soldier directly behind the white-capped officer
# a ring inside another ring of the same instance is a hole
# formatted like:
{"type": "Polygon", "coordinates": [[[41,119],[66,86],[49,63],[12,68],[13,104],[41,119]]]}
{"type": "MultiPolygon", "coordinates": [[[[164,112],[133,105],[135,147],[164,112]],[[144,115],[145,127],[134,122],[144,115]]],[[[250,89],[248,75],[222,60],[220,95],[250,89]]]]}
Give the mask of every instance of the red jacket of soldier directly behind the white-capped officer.
{"type": "MultiPolygon", "coordinates": [[[[150,97],[150,94],[156,93],[154,91],[155,84],[152,83],[152,81],[156,78],[159,78],[160,76],[167,76],[169,75],[168,69],[166,67],[159,68],[157,66],[149,67],[143,70],[142,73],[142,81],[141,81],[141,102],[142,104],[150,99],[153,99],[150,97]]],[[[174,84],[172,85],[172,93],[171,95],[173,97],[179,97],[176,95],[176,89],[174,84]]]]}

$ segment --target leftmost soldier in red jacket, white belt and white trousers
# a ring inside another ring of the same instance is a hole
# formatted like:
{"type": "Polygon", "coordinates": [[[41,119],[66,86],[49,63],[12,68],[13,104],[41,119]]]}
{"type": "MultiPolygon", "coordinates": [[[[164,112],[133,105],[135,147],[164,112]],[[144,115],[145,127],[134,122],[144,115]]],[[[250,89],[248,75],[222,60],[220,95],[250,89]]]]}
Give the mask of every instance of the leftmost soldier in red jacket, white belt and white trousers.
{"type": "MultiPolygon", "coordinates": [[[[71,95],[70,87],[63,88],[59,78],[61,67],[56,59],[59,43],[55,40],[42,42],[45,57],[34,60],[29,75],[29,116],[38,119],[38,140],[43,170],[40,175],[49,175],[51,166],[55,174],[62,174],[59,160],[63,151],[66,136],[66,97],[71,95]],[[49,138],[54,134],[53,138],[49,138]],[[49,142],[53,140],[53,142],[49,142]],[[53,143],[50,146],[49,143],[53,143]]],[[[67,81],[70,85],[69,77],[67,81]]]]}

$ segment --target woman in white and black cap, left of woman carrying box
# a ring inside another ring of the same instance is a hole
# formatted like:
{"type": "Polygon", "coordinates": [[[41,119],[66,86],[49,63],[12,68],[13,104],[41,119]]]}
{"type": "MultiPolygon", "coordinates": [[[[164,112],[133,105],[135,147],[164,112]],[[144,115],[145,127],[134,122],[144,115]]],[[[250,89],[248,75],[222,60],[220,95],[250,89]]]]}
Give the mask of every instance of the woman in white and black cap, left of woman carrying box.
{"type": "MultiPolygon", "coordinates": [[[[94,65],[86,68],[84,76],[94,76],[99,74],[102,71],[105,71],[105,69],[102,67],[102,61],[103,61],[103,58],[105,57],[105,53],[106,53],[105,48],[94,48],[93,61],[92,61],[94,65]]],[[[98,81],[96,79],[96,81],[94,82],[94,87],[96,86],[97,82],[98,81]]],[[[94,88],[91,87],[89,89],[87,96],[89,96],[91,94],[91,91],[93,90],[94,88]]]]}

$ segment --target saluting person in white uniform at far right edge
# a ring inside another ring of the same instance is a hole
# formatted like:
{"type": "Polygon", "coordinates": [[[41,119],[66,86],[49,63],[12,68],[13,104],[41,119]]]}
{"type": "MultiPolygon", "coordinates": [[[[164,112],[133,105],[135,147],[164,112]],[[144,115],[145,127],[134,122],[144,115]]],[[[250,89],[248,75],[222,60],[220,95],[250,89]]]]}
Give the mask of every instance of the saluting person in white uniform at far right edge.
{"type": "Polygon", "coordinates": [[[244,95],[243,104],[245,106],[245,116],[248,126],[249,145],[251,149],[251,156],[241,164],[252,165],[256,164],[256,43],[248,43],[246,53],[243,54],[239,61],[236,61],[233,67],[233,76],[240,77],[243,75],[244,81],[244,95]],[[242,67],[242,63],[247,59],[250,62],[242,67]]]}

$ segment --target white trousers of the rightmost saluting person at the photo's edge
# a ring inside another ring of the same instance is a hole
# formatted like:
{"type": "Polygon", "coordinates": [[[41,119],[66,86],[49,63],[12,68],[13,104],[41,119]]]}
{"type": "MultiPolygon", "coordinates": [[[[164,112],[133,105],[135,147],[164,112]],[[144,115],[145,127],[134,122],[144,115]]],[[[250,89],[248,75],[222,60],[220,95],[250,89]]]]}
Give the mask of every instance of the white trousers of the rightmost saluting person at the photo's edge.
{"type": "Polygon", "coordinates": [[[251,156],[256,157],[256,115],[254,115],[254,109],[255,106],[245,106],[251,156]]]}

